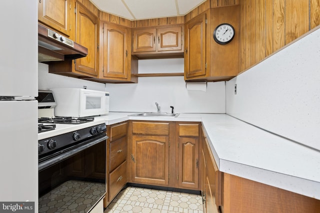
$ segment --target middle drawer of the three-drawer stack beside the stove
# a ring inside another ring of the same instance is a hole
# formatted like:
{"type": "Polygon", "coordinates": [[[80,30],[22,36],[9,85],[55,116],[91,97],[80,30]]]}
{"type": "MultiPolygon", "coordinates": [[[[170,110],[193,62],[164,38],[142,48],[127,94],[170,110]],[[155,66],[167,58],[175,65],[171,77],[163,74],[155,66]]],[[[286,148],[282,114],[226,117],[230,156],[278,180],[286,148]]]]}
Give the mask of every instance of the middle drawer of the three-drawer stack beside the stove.
{"type": "Polygon", "coordinates": [[[114,170],[117,166],[119,166],[126,159],[126,137],[122,137],[116,141],[112,141],[109,144],[109,171],[114,170]]]}

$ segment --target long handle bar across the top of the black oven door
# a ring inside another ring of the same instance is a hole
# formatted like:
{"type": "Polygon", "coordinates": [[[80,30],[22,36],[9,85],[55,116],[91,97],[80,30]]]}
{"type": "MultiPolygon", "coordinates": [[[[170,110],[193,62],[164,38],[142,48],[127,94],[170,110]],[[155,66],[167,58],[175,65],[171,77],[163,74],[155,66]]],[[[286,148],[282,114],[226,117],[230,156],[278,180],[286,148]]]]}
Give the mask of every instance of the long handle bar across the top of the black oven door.
{"type": "Polygon", "coordinates": [[[53,165],[55,163],[58,163],[58,162],[60,162],[60,161],[62,161],[64,159],[67,159],[68,157],[71,157],[72,155],[75,155],[75,154],[77,154],[77,153],[79,153],[79,152],[81,152],[81,151],[83,151],[83,150],[95,145],[95,144],[98,144],[98,143],[100,143],[102,141],[105,141],[106,139],[108,139],[108,137],[107,136],[103,136],[103,137],[98,138],[98,139],[96,139],[94,141],[91,141],[91,142],[89,142],[87,144],[84,144],[84,145],[79,146],[79,147],[77,147],[75,149],[72,149],[72,150],[70,150],[68,152],[62,153],[61,155],[55,156],[55,157],[53,157],[53,158],[51,158],[51,159],[49,159],[47,161],[39,163],[38,164],[38,171],[43,170],[43,169],[45,169],[45,168],[47,168],[47,167],[49,167],[49,166],[51,166],[51,165],[53,165]]]}

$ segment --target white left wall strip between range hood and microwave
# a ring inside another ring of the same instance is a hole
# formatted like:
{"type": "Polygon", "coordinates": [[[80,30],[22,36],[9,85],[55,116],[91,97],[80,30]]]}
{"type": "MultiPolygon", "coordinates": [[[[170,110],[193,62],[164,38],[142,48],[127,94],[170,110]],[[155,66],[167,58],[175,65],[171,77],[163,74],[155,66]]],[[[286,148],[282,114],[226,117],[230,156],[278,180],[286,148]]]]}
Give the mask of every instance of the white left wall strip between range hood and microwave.
{"type": "Polygon", "coordinates": [[[77,78],[48,73],[48,65],[38,63],[38,89],[49,90],[51,88],[83,88],[104,91],[105,84],[87,81],[77,78]]]}

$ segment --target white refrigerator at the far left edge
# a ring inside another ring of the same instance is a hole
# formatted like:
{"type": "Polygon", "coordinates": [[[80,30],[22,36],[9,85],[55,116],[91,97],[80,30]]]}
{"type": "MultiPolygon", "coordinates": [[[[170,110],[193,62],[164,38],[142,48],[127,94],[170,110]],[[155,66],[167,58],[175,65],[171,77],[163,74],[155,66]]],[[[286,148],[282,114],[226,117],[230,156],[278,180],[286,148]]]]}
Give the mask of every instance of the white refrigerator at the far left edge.
{"type": "Polygon", "coordinates": [[[1,1],[0,26],[0,202],[37,213],[37,1],[1,1]]]}

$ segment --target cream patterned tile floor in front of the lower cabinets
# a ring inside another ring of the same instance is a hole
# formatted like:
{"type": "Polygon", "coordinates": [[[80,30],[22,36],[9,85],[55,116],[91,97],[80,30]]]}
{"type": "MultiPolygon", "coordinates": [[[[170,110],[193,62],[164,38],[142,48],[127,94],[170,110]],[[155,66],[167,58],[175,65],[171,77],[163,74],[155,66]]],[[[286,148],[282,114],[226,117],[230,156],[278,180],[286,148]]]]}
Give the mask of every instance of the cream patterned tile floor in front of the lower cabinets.
{"type": "Polygon", "coordinates": [[[203,213],[200,195],[128,187],[104,213],[203,213]]]}

